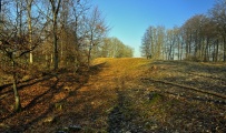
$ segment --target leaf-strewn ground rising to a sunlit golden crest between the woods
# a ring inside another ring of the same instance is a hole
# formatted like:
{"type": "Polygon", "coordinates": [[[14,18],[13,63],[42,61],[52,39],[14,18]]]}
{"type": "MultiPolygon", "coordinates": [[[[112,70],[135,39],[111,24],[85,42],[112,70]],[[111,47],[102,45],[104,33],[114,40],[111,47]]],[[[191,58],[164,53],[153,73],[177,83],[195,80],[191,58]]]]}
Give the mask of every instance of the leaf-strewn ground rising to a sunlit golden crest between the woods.
{"type": "Polygon", "coordinates": [[[150,133],[226,131],[226,64],[96,59],[90,71],[66,70],[0,85],[0,132],[150,133]]]}

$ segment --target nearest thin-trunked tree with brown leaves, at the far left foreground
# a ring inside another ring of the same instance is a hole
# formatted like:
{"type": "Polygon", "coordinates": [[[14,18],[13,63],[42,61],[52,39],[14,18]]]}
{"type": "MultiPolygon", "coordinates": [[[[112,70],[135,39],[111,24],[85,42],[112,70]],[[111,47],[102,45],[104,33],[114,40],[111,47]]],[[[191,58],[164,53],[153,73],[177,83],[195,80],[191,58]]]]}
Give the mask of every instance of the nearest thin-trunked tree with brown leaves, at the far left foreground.
{"type": "MultiPolygon", "coordinates": [[[[18,83],[23,75],[28,74],[27,54],[33,51],[39,43],[45,39],[41,35],[42,27],[37,31],[36,39],[32,41],[32,47],[29,44],[29,32],[26,29],[24,7],[22,1],[14,1],[8,7],[16,8],[16,12],[6,11],[6,16],[16,14],[13,19],[3,21],[3,29],[0,32],[0,69],[8,75],[11,75],[12,88],[14,93],[14,110],[20,111],[20,95],[18,92],[18,83]],[[13,7],[16,4],[16,7],[13,7]]],[[[45,27],[45,25],[43,25],[45,27]]]]}

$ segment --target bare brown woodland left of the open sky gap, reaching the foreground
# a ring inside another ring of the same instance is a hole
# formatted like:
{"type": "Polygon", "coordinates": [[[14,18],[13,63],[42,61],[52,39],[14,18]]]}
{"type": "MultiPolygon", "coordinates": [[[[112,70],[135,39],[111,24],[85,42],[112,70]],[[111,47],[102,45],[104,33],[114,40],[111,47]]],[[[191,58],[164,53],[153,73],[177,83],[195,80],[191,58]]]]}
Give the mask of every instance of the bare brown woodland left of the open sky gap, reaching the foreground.
{"type": "Polygon", "coordinates": [[[89,69],[94,58],[132,57],[98,7],[89,0],[0,0],[0,72],[11,76],[16,111],[17,85],[24,75],[59,69],[89,69]]]}

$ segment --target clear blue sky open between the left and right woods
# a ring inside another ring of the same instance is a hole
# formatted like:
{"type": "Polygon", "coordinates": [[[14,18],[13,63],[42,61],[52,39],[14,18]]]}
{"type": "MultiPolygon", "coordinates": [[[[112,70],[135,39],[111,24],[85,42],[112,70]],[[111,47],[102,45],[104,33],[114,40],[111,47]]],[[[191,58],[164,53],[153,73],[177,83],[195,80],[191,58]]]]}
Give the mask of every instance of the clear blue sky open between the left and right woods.
{"type": "Polygon", "coordinates": [[[180,27],[190,17],[207,13],[215,0],[92,0],[116,37],[140,57],[141,37],[149,25],[180,27]]]}

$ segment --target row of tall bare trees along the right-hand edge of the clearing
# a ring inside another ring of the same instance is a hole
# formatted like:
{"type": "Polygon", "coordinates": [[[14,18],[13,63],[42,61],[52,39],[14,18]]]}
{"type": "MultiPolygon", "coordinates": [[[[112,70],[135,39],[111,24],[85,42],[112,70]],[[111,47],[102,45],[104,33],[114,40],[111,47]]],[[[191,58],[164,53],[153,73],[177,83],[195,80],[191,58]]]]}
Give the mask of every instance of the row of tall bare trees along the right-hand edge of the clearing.
{"type": "Polygon", "coordinates": [[[141,55],[159,60],[226,62],[226,0],[218,0],[206,14],[195,14],[181,27],[147,28],[141,55]]]}

